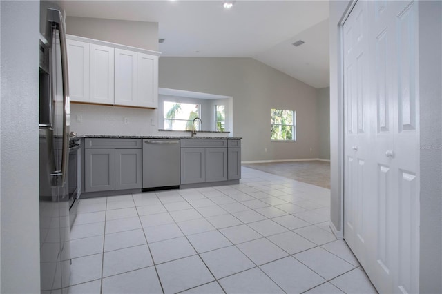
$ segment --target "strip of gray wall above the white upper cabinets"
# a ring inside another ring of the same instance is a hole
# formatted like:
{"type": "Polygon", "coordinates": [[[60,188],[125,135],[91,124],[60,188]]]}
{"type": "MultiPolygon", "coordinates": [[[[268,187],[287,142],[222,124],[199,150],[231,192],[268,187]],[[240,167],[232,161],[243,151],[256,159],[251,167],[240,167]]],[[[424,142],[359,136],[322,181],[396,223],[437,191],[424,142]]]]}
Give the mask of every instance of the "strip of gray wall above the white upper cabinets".
{"type": "Polygon", "coordinates": [[[158,23],[66,17],[70,35],[158,51],[158,23]]]}

